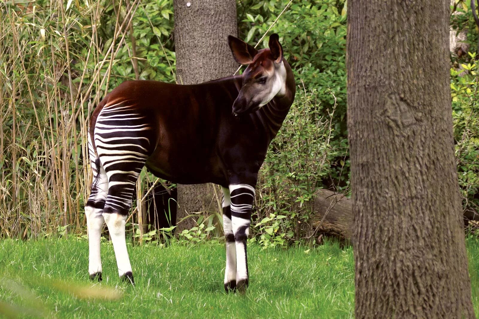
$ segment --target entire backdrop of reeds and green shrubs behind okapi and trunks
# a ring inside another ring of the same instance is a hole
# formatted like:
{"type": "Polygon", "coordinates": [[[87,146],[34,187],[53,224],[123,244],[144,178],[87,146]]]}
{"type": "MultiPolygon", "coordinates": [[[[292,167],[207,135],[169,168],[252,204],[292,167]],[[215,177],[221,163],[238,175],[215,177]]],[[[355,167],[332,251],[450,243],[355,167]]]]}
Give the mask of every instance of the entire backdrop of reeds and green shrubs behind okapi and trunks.
{"type": "MultiPolygon", "coordinates": [[[[239,0],[239,37],[256,44],[288,2],[239,0]]],[[[296,0],[271,29],[280,34],[299,88],[261,170],[251,233],[264,247],[314,239],[316,190],[349,192],[345,6],[344,0],[296,0]]],[[[84,232],[88,116],[105,92],[135,79],[135,61],[138,78],[175,81],[172,8],[172,0],[0,4],[1,237],[84,232]]],[[[474,51],[471,12],[462,4],[456,10],[464,14],[452,15],[451,23],[469,28],[474,51]]],[[[477,210],[477,55],[452,55],[451,66],[459,183],[464,209],[477,210]]],[[[141,179],[153,182],[146,172],[141,179]]],[[[136,206],[129,236],[155,241],[156,232],[143,232],[142,205],[136,206]]],[[[217,217],[204,216],[180,237],[221,236],[217,217]]]]}

